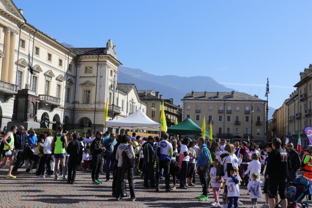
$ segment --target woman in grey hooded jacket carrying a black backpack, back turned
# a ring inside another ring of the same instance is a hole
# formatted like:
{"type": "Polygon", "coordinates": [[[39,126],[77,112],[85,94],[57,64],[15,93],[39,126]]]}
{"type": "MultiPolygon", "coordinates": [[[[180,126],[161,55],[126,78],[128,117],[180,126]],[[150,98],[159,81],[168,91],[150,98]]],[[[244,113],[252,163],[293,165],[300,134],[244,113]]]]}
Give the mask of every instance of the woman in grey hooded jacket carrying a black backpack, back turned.
{"type": "MultiPolygon", "coordinates": [[[[121,199],[121,190],[123,190],[125,187],[125,183],[122,183],[124,180],[124,174],[125,171],[128,171],[127,177],[128,177],[128,183],[129,183],[129,191],[130,191],[130,196],[131,196],[131,201],[135,201],[135,194],[134,194],[134,182],[133,182],[133,167],[128,167],[124,168],[122,166],[123,159],[122,159],[122,153],[129,148],[133,154],[133,157],[135,157],[133,147],[131,145],[131,140],[128,137],[128,135],[121,135],[120,138],[120,144],[117,148],[116,152],[116,160],[118,160],[118,176],[117,176],[117,181],[116,181],[116,200],[119,201],[121,199]]],[[[129,195],[128,195],[129,196],[129,195]]]]}

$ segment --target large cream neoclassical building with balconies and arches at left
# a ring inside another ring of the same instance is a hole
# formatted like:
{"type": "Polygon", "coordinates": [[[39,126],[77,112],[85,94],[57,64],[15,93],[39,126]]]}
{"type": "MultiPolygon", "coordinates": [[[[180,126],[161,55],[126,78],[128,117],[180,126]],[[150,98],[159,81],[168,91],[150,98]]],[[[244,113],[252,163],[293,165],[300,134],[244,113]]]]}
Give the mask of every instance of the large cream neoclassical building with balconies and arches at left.
{"type": "Polygon", "coordinates": [[[27,129],[47,124],[53,129],[63,125],[103,130],[107,99],[111,113],[115,103],[114,117],[121,113],[118,105],[122,101],[111,90],[112,85],[117,86],[119,65],[111,39],[105,47],[67,48],[29,24],[23,10],[11,0],[0,0],[2,129],[15,123],[27,129]],[[29,65],[34,74],[27,70],[29,65]]]}

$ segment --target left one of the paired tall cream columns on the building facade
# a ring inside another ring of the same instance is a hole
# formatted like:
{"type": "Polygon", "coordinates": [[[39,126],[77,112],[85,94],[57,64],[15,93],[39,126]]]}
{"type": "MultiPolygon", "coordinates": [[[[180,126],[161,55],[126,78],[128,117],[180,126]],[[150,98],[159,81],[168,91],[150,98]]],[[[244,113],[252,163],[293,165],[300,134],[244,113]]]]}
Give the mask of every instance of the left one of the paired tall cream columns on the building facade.
{"type": "Polygon", "coordinates": [[[11,36],[11,27],[5,27],[4,33],[4,58],[2,61],[2,72],[1,80],[7,82],[7,76],[9,72],[9,56],[10,56],[10,36],[11,36]]]}

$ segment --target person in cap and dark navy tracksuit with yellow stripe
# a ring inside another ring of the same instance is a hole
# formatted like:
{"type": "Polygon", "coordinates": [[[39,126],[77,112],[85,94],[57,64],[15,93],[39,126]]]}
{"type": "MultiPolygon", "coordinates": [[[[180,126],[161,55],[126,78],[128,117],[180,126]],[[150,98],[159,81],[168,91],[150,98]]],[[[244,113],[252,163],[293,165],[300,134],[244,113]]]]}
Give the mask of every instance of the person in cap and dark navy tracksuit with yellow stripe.
{"type": "Polygon", "coordinates": [[[143,162],[144,162],[144,187],[155,188],[154,178],[154,142],[155,139],[152,136],[147,138],[147,142],[143,145],[143,162]],[[148,184],[150,183],[150,186],[148,184]]]}

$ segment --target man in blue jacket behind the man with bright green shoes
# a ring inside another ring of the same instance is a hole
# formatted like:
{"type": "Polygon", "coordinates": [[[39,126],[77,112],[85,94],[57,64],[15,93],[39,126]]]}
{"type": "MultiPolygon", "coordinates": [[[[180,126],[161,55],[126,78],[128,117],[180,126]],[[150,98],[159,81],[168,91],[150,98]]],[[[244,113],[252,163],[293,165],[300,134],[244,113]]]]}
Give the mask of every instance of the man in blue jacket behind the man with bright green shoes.
{"type": "Polygon", "coordinates": [[[104,139],[103,147],[106,148],[105,151],[105,168],[106,168],[106,181],[110,180],[110,166],[113,163],[112,152],[117,141],[115,139],[115,134],[110,133],[110,137],[108,139],[104,139]]]}

